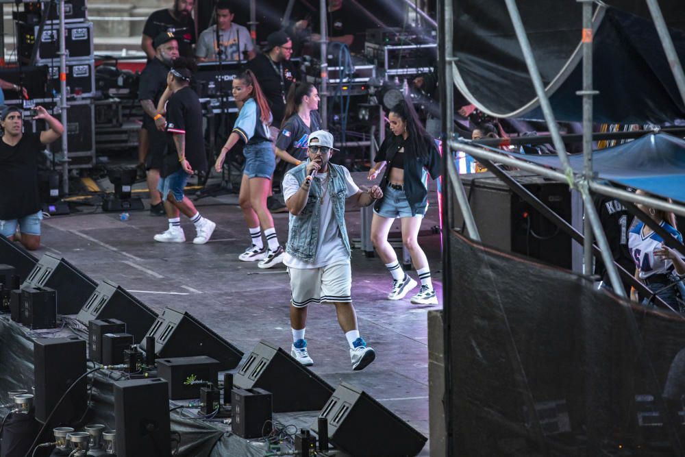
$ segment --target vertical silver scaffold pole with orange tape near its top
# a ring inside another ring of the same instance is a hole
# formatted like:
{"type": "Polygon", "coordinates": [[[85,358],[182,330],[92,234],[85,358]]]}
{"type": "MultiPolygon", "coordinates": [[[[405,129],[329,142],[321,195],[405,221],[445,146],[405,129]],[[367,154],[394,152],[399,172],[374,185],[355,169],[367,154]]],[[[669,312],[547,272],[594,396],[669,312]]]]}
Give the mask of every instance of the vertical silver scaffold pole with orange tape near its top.
{"type": "MultiPolygon", "coordinates": [[[[578,0],[583,4],[583,90],[578,90],[576,95],[583,97],[583,177],[586,182],[593,179],[593,96],[597,91],[593,90],[593,0],[578,0]]],[[[585,214],[588,209],[585,208],[585,214]]],[[[593,273],[593,230],[590,226],[590,218],[583,221],[583,272],[586,275],[593,273]]]]}

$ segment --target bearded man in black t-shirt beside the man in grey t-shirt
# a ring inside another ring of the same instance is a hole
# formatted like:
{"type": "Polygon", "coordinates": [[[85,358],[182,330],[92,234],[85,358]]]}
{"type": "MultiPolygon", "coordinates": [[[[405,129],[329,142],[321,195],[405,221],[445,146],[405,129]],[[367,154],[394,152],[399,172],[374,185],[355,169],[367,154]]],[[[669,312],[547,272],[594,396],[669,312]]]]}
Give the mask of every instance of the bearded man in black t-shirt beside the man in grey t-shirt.
{"type": "Polygon", "coordinates": [[[169,32],[178,40],[179,53],[192,57],[192,45],[195,45],[195,21],[190,12],[195,0],[174,0],[173,8],[157,10],[150,14],[142,29],[140,47],[145,51],[148,60],[155,58],[153,40],[161,33],[169,32]]]}

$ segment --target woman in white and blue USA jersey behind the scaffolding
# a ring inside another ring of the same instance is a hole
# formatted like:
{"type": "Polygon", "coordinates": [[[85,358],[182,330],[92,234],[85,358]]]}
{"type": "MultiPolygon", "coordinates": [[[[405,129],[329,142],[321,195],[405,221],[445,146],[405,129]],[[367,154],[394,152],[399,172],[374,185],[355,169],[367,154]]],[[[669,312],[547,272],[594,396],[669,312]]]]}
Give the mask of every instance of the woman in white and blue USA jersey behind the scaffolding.
{"type": "MultiPolygon", "coordinates": [[[[643,190],[638,194],[647,195],[643,190]]],[[[664,212],[646,205],[638,204],[638,208],[646,212],[649,217],[681,244],[683,237],[675,228],[675,216],[672,212],[664,212]]],[[[650,291],[662,299],[675,310],[680,310],[677,296],[680,295],[680,284],[667,287],[674,282],[680,282],[677,275],[685,274],[685,261],[680,253],[664,245],[664,240],[656,234],[644,222],[639,221],[628,234],[628,249],[635,260],[635,277],[644,282],[650,291]],[[677,273],[674,275],[673,273],[677,273]]],[[[632,299],[636,300],[637,293],[631,293],[632,299]]],[[[683,299],[685,297],[681,297],[683,299]]],[[[649,301],[649,300],[647,300],[649,301]]]]}

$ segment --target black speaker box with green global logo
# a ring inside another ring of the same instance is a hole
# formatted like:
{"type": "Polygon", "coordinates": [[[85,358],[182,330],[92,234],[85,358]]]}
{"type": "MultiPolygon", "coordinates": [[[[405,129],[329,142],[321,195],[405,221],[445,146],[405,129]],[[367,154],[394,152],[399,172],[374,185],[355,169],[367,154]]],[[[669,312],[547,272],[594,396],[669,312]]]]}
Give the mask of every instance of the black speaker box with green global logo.
{"type": "Polygon", "coordinates": [[[219,384],[219,365],[218,360],[208,356],[158,358],[157,375],[169,382],[172,400],[199,398],[203,384],[190,382],[205,381],[216,386],[219,384]]]}

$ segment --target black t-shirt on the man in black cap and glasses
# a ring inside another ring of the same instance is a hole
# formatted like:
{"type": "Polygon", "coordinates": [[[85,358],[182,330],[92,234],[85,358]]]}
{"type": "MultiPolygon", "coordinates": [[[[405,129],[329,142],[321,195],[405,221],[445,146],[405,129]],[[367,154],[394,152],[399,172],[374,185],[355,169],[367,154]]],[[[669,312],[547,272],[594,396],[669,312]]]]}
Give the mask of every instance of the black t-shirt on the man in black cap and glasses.
{"type": "Polygon", "coordinates": [[[245,68],[255,74],[264,97],[269,101],[273,116],[271,125],[281,125],[286,110],[286,94],[290,84],[299,79],[295,66],[289,60],[275,63],[266,54],[258,54],[247,63],[245,68]]]}

